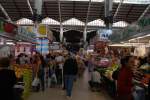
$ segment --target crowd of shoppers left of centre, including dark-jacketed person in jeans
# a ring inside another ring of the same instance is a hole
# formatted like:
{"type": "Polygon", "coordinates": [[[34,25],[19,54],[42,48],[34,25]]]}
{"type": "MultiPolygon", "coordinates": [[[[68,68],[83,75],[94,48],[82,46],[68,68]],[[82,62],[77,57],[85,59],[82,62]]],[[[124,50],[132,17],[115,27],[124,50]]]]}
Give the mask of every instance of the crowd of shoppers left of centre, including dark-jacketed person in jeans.
{"type": "Polygon", "coordinates": [[[6,100],[13,100],[13,87],[18,81],[15,72],[11,70],[11,64],[14,63],[20,65],[20,67],[24,64],[28,64],[31,67],[33,92],[44,92],[46,88],[62,88],[66,90],[67,98],[71,97],[74,81],[78,77],[82,77],[85,69],[81,58],[71,52],[51,51],[45,56],[39,52],[35,52],[32,56],[21,53],[16,58],[1,58],[0,98],[4,96],[1,94],[11,98],[6,100]]]}

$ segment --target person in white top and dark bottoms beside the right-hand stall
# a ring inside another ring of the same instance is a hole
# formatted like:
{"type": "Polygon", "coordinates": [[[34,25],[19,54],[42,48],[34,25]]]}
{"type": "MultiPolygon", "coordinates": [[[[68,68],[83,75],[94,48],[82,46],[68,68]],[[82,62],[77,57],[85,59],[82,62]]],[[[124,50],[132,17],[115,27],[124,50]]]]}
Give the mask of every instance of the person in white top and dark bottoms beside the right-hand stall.
{"type": "Polygon", "coordinates": [[[101,75],[96,69],[94,69],[94,71],[91,73],[91,80],[89,81],[89,85],[93,91],[100,90],[101,75]]]}

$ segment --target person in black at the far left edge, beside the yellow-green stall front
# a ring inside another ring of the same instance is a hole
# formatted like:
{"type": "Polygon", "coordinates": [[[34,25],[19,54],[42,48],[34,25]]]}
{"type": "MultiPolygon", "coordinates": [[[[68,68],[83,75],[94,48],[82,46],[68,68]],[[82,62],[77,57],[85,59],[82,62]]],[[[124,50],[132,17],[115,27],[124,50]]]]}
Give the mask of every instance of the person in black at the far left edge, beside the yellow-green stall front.
{"type": "Polygon", "coordinates": [[[0,59],[0,100],[15,100],[14,85],[17,82],[15,72],[9,70],[9,58],[0,59]]]}

